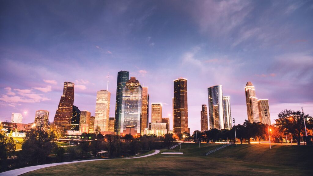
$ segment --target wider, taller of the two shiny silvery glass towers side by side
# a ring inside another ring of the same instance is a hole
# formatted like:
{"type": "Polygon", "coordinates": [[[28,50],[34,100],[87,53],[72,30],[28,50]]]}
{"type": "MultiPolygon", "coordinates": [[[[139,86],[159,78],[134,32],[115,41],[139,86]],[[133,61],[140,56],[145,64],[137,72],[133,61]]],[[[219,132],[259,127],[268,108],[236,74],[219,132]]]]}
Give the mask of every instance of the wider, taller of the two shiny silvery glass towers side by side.
{"type": "Polygon", "coordinates": [[[214,85],[208,88],[210,129],[224,129],[223,87],[214,85]]]}

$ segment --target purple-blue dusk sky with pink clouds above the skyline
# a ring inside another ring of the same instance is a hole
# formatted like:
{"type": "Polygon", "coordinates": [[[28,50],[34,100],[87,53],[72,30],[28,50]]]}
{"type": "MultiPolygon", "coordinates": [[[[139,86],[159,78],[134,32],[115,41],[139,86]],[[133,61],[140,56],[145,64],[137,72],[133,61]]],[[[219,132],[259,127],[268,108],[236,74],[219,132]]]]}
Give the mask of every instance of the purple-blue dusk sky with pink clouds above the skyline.
{"type": "Polygon", "coordinates": [[[312,21],[312,1],[1,1],[0,120],[27,111],[33,122],[45,109],[53,121],[64,81],[94,115],[108,73],[113,117],[120,70],[149,87],[163,117],[173,80],[187,78],[191,131],[217,84],[238,123],[247,81],[269,99],[272,122],[286,108],[313,115],[312,21]]]}

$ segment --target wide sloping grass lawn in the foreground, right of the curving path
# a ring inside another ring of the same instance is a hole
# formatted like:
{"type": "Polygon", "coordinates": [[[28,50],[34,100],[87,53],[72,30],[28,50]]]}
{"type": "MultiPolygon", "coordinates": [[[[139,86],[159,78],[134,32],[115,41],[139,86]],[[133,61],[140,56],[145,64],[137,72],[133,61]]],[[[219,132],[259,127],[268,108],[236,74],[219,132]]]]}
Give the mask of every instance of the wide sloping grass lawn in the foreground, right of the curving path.
{"type": "Polygon", "coordinates": [[[313,146],[273,145],[270,150],[265,144],[239,144],[203,156],[221,144],[203,144],[200,149],[196,145],[188,149],[182,144],[184,154],[179,156],[74,163],[25,175],[313,175],[313,146]]]}

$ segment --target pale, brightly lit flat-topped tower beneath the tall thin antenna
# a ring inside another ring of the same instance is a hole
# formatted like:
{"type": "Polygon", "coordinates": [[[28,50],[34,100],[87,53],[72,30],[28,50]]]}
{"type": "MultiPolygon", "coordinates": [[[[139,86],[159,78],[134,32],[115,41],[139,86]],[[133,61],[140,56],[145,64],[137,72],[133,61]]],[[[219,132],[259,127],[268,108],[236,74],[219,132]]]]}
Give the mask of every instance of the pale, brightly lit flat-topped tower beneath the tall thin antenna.
{"type": "Polygon", "coordinates": [[[101,132],[109,129],[110,97],[109,91],[97,91],[94,129],[98,126],[101,132]]]}

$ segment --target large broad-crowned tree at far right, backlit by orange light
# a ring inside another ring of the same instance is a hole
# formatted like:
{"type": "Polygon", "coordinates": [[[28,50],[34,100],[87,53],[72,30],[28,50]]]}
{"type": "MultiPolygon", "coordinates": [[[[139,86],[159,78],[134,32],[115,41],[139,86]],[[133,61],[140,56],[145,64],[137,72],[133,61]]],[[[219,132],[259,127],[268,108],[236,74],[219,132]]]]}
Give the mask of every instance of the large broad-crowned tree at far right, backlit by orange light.
{"type": "MultiPolygon", "coordinates": [[[[306,114],[305,119],[310,121],[312,117],[306,114]]],[[[278,114],[278,119],[275,122],[281,132],[285,135],[291,134],[296,138],[297,144],[300,145],[300,138],[305,134],[303,113],[301,111],[285,109],[278,114]]]]}

